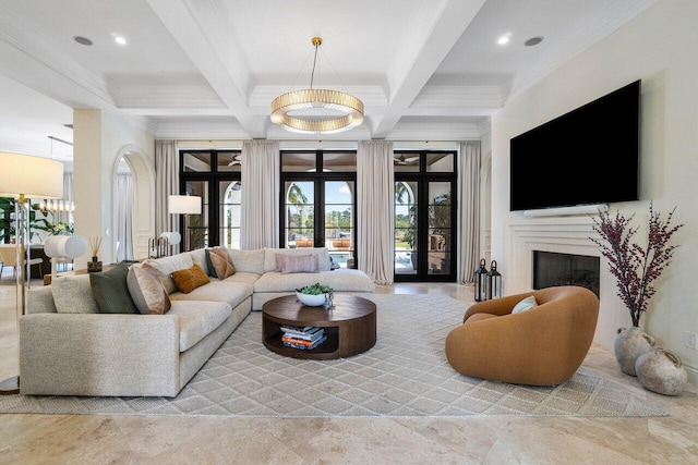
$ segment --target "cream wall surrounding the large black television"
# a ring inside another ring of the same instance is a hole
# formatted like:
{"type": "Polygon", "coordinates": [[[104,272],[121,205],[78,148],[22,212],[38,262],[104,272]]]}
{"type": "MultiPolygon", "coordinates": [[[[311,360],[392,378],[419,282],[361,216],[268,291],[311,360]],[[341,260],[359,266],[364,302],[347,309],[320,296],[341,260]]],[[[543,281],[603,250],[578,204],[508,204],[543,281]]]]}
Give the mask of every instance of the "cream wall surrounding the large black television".
{"type": "MultiPolygon", "coordinates": [[[[646,234],[649,200],[655,210],[677,207],[675,221],[685,227],[675,235],[681,247],[660,281],[646,331],[677,354],[698,383],[698,351],[684,346],[684,331],[698,332],[698,1],[664,0],[590,48],[565,66],[519,95],[493,118],[492,125],[492,256],[509,279],[507,231],[521,220],[508,211],[509,138],[602,95],[642,79],[640,201],[611,205],[611,210],[637,212],[646,234]]],[[[591,147],[601,144],[589,133],[591,147]]],[[[602,167],[600,167],[602,169],[602,167]]],[[[544,182],[544,180],[541,180],[544,182]]],[[[593,180],[590,180],[593,188],[593,180]]],[[[606,267],[602,262],[602,267],[606,267]]],[[[614,297],[613,311],[625,311],[614,297]]],[[[604,309],[602,309],[604,310],[604,309]]],[[[605,310],[609,310],[607,308],[605,310]]],[[[627,325],[630,325],[627,316],[627,325]]]]}

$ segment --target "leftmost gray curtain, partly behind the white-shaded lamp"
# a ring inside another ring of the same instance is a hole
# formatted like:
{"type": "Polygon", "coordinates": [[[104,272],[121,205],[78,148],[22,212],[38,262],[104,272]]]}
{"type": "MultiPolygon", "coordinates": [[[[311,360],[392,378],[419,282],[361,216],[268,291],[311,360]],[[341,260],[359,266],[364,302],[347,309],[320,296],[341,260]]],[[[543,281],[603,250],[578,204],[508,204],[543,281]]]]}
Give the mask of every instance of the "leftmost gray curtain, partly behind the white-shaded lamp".
{"type": "MultiPolygon", "coordinates": [[[[179,157],[177,140],[155,140],[155,236],[167,231],[179,232],[179,223],[168,213],[167,200],[179,194],[179,157]]],[[[180,245],[173,246],[179,253],[180,245]]]]}

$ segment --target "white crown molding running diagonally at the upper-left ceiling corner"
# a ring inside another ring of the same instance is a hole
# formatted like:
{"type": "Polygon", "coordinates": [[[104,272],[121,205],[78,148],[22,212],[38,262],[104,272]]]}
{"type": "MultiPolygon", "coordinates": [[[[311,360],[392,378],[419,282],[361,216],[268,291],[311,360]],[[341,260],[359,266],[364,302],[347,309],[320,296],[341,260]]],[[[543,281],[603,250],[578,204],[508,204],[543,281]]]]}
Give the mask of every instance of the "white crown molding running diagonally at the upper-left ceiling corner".
{"type": "MultiPolygon", "coordinates": [[[[0,40],[113,106],[105,76],[82,63],[36,27],[0,5],[0,40]]],[[[21,79],[19,79],[21,82],[21,79]]]]}

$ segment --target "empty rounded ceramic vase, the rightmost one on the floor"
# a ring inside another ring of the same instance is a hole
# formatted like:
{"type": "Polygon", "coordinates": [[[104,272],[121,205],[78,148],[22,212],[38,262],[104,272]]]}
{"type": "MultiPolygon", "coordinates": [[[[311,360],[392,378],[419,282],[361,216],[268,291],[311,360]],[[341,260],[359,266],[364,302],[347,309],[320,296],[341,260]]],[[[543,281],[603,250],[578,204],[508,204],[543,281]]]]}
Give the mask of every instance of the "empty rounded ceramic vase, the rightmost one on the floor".
{"type": "Polygon", "coordinates": [[[664,395],[681,394],[688,379],[681,359],[663,348],[654,348],[637,357],[635,371],[645,389],[664,395]]]}

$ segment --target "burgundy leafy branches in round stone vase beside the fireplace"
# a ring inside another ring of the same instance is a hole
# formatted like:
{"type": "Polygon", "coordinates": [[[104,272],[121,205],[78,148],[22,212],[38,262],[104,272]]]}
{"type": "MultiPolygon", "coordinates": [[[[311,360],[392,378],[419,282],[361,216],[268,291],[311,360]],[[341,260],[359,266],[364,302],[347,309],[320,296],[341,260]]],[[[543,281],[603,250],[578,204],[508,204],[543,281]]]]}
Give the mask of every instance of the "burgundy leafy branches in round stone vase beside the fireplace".
{"type": "Polygon", "coordinates": [[[635,215],[626,218],[619,212],[615,217],[600,211],[593,218],[593,230],[599,238],[589,237],[601,247],[601,255],[609,260],[609,270],[616,279],[617,295],[630,313],[633,327],[618,329],[614,342],[615,356],[621,370],[636,376],[635,362],[654,345],[654,340],[639,329],[640,317],[647,311],[650,298],[654,295],[652,283],[671,264],[677,245],[670,245],[674,233],[683,224],[672,225],[674,208],[665,221],[655,212],[650,203],[647,244],[642,247],[633,242],[638,228],[630,227],[635,215]]]}

